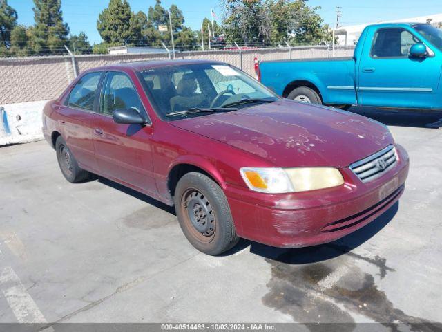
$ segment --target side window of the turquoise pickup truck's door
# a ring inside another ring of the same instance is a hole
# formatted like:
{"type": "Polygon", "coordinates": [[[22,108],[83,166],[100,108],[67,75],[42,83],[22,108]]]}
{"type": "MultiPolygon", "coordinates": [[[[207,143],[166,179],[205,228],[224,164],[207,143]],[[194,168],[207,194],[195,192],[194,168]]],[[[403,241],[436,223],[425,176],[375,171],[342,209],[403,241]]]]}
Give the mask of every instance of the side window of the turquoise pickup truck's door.
{"type": "Polygon", "coordinates": [[[408,57],[410,47],[420,42],[404,28],[381,28],[374,35],[371,55],[374,58],[408,57]]]}

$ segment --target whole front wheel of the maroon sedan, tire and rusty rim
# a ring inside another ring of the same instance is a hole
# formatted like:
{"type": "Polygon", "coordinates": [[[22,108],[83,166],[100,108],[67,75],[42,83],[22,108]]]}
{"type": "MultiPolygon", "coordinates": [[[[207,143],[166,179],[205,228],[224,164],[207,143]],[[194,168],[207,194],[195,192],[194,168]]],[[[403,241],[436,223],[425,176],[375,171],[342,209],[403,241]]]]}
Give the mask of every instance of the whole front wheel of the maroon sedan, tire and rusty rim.
{"type": "Polygon", "coordinates": [[[238,243],[227,198],[211,178],[198,172],[184,174],[174,199],[180,227],[192,246],[219,255],[238,243]]]}

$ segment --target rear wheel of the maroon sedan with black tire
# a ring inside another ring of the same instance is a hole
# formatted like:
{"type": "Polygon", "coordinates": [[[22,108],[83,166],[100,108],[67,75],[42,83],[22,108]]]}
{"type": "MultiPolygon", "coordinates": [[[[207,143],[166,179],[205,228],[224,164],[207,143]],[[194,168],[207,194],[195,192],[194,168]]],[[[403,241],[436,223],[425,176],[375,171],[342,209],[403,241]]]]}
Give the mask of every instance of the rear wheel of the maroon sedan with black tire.
{"type": "Polygon", "coordinates": [[[79,167],[77,160],[75,160],[68,145],[66,145],[65,140],[61,136],[58,136],[55,141],[55,151],[61,174],[63,174],[66,180],[71,183],[79,183],[89,177],[89,172],[79,167]]]}

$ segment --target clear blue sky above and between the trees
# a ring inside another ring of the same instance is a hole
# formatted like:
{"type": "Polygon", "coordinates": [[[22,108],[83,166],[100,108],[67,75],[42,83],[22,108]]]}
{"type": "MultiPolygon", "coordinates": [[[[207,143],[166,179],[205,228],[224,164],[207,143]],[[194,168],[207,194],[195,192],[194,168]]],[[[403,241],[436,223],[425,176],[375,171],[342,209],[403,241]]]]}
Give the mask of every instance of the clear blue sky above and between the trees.
{"type": "MultiPolygon", "coordinates": [[[[68,23],[70,33],[77,35],[86,33],[91,44],[102,42],[97,31],[97,18],[108,5],[108,0],[61,0],[64,21],[68,23]]],[[[128,0],[135,12],[147,12],[149,6],[155,5],[155,0],[128,0]]],[[[194,30],[200,29],[204,17],[211,17],[211,8],[222,19],[222,0],[163,0],[162,6],[169,8],[175,3],[184,14],[185,24],[194,30]]],[[[17,10],[19,24],[30,26],[34,24],[32,0],[8,0],[8,4],[17,10]]],[[[321,6],[318,13],[325,23],[334,26],[336,22],[336,6],[341,7],[341,26],[365,24],[388,19],[406,19],[442,12],[441,0],[308,0],[309,6],[321,6]],[[416,4],[418,3],[418,4],[416,4]]]]}

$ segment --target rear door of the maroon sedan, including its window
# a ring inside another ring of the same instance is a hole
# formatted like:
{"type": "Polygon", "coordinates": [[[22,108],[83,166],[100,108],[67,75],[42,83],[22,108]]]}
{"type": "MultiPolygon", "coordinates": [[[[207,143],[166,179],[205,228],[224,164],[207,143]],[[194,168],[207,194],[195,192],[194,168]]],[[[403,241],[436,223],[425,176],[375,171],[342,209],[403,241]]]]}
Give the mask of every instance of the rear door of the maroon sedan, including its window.
{"type": "Polygon", "coordinates": [[[82,76],[57,112],[59,128],[70,151],[80,167],[88,170],[97,169],[92,120],[95,102],[99,98],[101,76],[101,71],[82,76]]]}

